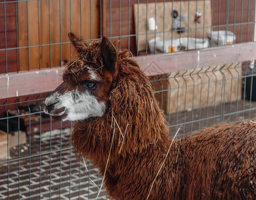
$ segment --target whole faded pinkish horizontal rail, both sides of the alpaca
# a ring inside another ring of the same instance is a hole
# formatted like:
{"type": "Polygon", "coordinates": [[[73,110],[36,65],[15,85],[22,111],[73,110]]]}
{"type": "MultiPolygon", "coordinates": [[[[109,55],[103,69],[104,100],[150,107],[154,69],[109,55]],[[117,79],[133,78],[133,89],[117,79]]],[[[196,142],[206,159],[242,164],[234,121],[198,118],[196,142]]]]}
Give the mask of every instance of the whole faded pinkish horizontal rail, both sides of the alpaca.
{"type": "MultiPolygon", "coordinates": [[[[162,53],[135,57],[146,75],[159,75],[185,69],[256,59],[256,43],[162,53]],[[227,55],[228,54],[228,55],[227,55]]],[[[0,75],[0,99],[53,91],[62,83],[63,67],[0,75]]]]}

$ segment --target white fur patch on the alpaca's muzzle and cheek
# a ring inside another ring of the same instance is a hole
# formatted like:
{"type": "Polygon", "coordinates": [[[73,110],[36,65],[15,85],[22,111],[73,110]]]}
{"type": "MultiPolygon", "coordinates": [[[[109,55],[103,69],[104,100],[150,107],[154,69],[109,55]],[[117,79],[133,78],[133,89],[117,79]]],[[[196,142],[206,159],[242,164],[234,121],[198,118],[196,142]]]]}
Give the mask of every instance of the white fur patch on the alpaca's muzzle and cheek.
{"type": "Polygon", "coordinates": [[[54,109],[65,107],[64,113],[66,113],[67,117],[63,121],[78,121],[88,119],[89,117],[102,117],[106,109],[104,102],[98,102],[96,97],[88,91],[80,93],[78,89],[68,91],[63,93],[63,95],[55,92],[45,99],[45,105],[53,103],[55,103],[54,109]]]}

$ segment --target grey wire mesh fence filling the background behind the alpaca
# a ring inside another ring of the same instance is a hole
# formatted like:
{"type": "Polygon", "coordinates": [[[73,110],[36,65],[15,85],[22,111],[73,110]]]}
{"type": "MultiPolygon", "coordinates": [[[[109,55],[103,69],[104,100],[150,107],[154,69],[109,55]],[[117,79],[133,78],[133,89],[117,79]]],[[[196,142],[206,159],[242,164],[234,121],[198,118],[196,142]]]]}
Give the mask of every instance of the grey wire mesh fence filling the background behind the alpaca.
{"type": "MultiPolygon", "coordinates": [[[[119,39],[120,48],[138,58],[156,55],[152,63],[158,70],[147,75],[170,137],[178,127],[178,137],[185,137],[217,123],[256,118],[254,61],[229,58],[232,45],[255,41],[255,10],[251,0],[0,0],[0,73],[7,79],[0,99],[0,199],[95,199],[98,194],[102,177],[72,149],[72,123],[43,113],[49,92],[8,93],[13,73],[29,71],[27,79],[35,80],[32,69],[62,70],[76,58],[68,32],[85,41],[103,35],[119,39]],[[173,55],[174,61],[177,51],[186,59],[186,50],[226,45],[223,59],[209,55],[219,59],[217,65],[199,65],[200,58],[175,69],[166,62],[163,69],[156,61],[162,55],[173,55]],[[197,67],[188,67],[193,63],[197,67]]],[[[142,69],[148,72],[152,63],[142,69]]],[[[108,199],[105,190],[98,199],[108,199]]]]}

